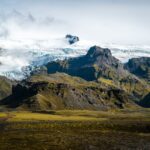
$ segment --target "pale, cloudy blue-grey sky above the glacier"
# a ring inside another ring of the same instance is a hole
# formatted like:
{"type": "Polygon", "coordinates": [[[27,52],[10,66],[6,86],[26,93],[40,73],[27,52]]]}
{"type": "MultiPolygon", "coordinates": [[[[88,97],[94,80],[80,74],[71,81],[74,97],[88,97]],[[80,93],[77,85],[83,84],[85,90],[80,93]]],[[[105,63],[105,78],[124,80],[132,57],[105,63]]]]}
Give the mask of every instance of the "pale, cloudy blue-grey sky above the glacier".
{"type": "Polygon", "coordinates": [[[0,0],[0,38],[150,45],[149,0],[0,0]]]}

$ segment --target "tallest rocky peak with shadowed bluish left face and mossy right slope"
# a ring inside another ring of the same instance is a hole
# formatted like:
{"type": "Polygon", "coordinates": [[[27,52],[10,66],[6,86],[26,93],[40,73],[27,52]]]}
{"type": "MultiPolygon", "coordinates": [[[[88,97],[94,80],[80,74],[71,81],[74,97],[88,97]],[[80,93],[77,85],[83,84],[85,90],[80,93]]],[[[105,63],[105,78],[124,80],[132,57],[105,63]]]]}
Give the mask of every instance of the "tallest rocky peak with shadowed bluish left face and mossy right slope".
{"type": "Polygon", "coordinates": [[[50,62],[46,67],[48,74],[65,72],[87,81],[109,84],[133,94],[139,100],[150,92],[149,85],[125,70],[123,64],[106,48],[93,46],[82,57],[50,62]]]}

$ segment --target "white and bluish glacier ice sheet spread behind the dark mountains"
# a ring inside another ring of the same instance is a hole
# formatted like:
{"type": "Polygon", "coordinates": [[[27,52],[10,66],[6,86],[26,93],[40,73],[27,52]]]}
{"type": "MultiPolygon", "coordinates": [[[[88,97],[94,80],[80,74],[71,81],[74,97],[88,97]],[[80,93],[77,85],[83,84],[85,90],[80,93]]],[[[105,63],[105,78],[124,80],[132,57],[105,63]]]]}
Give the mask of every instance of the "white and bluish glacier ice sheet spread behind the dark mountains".
{"type": "Polygon", "coordinates": [[[93,45],[110,48],[122,62],[132,57],[150,57],[150,46],[99,44],[82,40],[70,45],[65,37],[50,40],[3,39],[0,40],[0,75],[21,80],[35,67],[57,59],[84,55],[93,45]]]}

